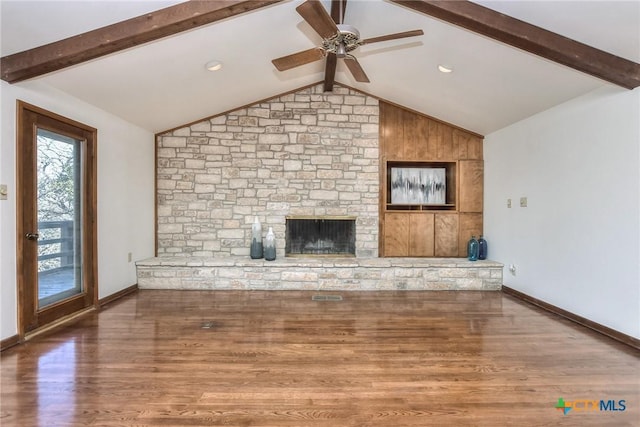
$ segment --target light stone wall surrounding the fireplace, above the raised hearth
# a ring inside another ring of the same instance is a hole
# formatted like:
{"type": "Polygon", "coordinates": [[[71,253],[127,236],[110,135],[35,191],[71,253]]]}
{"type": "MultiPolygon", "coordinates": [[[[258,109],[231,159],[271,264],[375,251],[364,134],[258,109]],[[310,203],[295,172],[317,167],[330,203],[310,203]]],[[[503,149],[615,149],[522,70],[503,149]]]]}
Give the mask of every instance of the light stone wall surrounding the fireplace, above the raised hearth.
{"type": "Polygon", "coordinates": [[[378,256],[378,100],[317,85],[160,135],[158,256],[249,255],[251,224],[351,215],[356,256],[378,256]]]}

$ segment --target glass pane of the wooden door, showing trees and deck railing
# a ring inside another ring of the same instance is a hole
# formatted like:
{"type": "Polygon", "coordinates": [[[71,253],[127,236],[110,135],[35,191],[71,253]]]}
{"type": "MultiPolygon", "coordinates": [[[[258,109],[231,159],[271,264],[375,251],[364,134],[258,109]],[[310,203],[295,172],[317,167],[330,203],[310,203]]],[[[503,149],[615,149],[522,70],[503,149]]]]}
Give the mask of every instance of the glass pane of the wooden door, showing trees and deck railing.
{"type": "Polygon", "coordinates": [[[78,295],[82,283],[83,141],[37,129],[38,308],[78,295]]]}

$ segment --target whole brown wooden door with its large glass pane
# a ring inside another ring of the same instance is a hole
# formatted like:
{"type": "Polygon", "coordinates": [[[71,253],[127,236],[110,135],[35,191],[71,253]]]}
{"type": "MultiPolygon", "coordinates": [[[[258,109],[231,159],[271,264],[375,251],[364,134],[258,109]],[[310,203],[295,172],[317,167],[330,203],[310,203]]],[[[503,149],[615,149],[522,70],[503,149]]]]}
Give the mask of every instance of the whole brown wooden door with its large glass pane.
{"type": "Polygon", "coordinates": [[[97,130],[18,101],[18,334],[95,307],[97,130]]]}

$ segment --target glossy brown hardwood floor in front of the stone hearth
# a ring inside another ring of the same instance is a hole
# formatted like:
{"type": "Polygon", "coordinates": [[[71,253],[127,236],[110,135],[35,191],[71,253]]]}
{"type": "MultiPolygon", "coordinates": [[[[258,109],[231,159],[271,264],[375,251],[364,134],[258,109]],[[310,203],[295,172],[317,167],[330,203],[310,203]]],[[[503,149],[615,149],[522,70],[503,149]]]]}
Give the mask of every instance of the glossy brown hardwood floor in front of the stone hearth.
{"type": "Polygon", "coordinates": [[[0,424],[639,423],[640,352],[500,292],[316,294],[128,295],[2,353],[0,424]]]}

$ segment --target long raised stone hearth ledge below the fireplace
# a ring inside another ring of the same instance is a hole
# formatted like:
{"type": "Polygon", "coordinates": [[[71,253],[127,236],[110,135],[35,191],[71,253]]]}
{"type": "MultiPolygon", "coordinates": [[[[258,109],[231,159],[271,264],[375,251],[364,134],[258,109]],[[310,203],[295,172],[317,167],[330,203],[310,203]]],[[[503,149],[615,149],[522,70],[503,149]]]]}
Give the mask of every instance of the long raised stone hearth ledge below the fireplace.
{"type": "Polygon", "coordinates": [[[503,264],[464,258],[169,257],[136,262],[140,289],[500,290],[503,264]]]}

